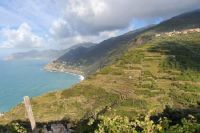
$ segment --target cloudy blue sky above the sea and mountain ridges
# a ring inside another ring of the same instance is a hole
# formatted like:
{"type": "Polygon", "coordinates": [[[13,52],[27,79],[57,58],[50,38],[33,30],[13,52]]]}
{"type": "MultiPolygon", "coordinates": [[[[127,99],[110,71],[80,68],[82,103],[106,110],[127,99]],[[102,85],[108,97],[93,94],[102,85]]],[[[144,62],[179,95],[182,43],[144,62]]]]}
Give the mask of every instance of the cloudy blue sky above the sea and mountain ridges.
{"type": "Polygon", "coordinates": [[[0,54],[99,42],[200,8],[200,0],[1,0],[0,54]]]}

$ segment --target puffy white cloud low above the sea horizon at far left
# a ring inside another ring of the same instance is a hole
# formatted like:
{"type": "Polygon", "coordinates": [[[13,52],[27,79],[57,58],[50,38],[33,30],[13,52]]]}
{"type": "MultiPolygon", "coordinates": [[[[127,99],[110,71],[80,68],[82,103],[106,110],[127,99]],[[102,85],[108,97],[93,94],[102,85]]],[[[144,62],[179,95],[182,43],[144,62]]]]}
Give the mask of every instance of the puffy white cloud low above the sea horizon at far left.
{"type": "Polygon", "coordinates": [[[18,29],[2,29],[1,35],[4,41],[0,48],[30,49],[44,47],[43,38],[33,34],[27,23],[22,23],[18,29]]]}

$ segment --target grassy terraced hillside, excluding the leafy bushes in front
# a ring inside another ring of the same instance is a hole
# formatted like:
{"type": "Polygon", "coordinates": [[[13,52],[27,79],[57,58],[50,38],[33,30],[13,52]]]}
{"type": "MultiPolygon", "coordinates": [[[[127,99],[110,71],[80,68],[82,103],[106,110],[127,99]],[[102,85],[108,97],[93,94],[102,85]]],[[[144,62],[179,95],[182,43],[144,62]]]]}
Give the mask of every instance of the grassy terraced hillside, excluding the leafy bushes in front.
{"type": "MultiPolygon", "coordinates": [[[[120,115],[134,117],[149,110],[161,112],[200,102],[200,33],[162,36],[129,49],[107,66],[71,89],[32,99],[38,122],[70,119],[78,121],[96,115],[106,106],[120,115]]],[[[0,123],[25,120],[21,104],[0,119],[0,123]]]]}

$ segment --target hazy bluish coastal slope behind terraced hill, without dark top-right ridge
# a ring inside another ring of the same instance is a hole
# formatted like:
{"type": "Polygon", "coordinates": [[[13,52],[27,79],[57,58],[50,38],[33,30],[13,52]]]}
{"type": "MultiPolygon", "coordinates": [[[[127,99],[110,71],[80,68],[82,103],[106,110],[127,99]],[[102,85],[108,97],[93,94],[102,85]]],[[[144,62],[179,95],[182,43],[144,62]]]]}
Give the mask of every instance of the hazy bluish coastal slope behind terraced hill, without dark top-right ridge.
{"type": "Polygon", "coordinates": [[[111,64],[115,59],[120,57],[129,48],[129,42],[134,40],[137,35],[145,32],[148,28],[145,27],[104,40],[89,48],[78,47],[72,49],[48,64],[45,68],[47,70],[58,71],[63,69],[71,71],[71,69],[75,69],[82,71],[85,75],[94,73],[96,70],[111,64]]]}

